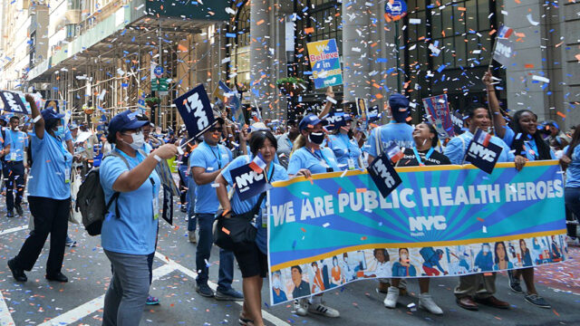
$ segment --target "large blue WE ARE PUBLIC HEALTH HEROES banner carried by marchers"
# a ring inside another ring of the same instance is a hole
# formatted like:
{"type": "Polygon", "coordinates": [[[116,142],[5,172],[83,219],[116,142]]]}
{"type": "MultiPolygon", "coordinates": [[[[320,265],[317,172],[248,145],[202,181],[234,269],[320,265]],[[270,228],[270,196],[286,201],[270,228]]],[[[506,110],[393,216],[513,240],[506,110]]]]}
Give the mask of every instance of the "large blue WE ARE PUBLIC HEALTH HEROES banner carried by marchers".
{"type": "Polygon", "coordinates": [[[465,275],[566,259],[556,160],[396,168],[383,198],[366,172],[295,177],[268,194],[271,304],[369,278],[465,275]]]}

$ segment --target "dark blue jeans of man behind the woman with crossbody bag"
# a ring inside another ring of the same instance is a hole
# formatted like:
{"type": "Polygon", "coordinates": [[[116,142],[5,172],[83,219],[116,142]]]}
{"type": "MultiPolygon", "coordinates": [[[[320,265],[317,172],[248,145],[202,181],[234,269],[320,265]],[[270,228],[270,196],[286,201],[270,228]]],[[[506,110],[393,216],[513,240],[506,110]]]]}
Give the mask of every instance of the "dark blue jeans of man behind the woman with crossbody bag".
{"type": "MultiPolygon", "coordinates": [[[[199,238],[196,251],[196,268],[198,269],[198,284],[208,283],[209,254],[211,246],[214,245],[214,235],[212,228],[214,225],[215,214],[196,214],[199,225],[199,238]]],[[[234,253],[219,249],[219,278],[218,291],[227,292],[231,289],[234,280],[234,253]]]]}

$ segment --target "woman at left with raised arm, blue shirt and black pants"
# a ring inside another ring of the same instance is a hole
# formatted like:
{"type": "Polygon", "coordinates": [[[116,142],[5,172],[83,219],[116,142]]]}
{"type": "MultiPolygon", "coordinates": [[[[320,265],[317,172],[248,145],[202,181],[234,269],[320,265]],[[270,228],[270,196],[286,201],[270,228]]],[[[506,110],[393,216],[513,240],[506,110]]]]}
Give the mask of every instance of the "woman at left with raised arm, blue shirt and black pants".
{"type": "Polygon", "coordinates": [[[64,115],[52,109],[43,110],[41,114],[31,95],[26,95],[26,101],[30,103],[34,121],[33,165],[28,183],[28,203],[34,217],[34,230],[24,241],[20,252],[8,261],[8,267],[16,281],[26,282],[24,271],[32,270],[50,234],[51,250],[45,277],[49,281],[68,282],[61,268],[71,208],[73,155],[66,150],[61,139],[64,136],[64,115]]]}

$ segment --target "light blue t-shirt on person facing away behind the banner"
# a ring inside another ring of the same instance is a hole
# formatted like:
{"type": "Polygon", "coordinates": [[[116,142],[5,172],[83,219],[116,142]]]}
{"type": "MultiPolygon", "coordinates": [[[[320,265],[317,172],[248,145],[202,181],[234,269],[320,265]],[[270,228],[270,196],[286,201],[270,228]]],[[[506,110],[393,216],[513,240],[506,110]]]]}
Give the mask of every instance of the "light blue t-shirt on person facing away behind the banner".
{"type": "Polygon", "coordinates": [[[362,150],[375,158],[377,157],[377,130],[380,130],[382,151],[388,149],[393,143],[399,145],[401,149],[411,149],[415,144],[413,140],[413,128],[410,125],[391,121],[391,123],[372,129],[371,136],[367,139],[366,144],[364,144],[362,150]]]}

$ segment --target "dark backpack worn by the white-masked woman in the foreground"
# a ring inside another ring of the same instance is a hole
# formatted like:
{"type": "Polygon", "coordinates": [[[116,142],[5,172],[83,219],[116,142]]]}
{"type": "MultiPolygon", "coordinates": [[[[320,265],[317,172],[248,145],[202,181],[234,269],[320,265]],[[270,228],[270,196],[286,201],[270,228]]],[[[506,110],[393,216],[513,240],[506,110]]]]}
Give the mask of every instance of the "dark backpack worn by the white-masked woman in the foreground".
{"type": "MultiPolygon", "coordinates": [[[[118,152],[112,150],[107,156],[105,156],[105,158],[110,156],[121,158],[127,168],[131,169],[127,159],[123,158],[118,152]]],[[[87,230],[89,235],[101,235],[102,222],[104,221],[105,216],[107,216],[113,201],[116,203],[120,195],[120,192],[114,192],[111,199],[109,199],[109,202],[105,203],[105,194],[102,190],[99,168],[92,168],[91,171],[89,171],[84,178],[81,187],[79,187],[79,192],[76,197],[76,205],[74,207],[76,212],[81,211],[82,225],[84,225],[84,228],[87,230]]],[[[117,216],[117,218],[121,216],[119,214],[119,206],[117,205],[115,205],[115,216],[117,216]]]]}

